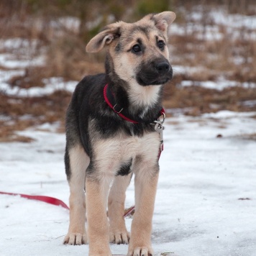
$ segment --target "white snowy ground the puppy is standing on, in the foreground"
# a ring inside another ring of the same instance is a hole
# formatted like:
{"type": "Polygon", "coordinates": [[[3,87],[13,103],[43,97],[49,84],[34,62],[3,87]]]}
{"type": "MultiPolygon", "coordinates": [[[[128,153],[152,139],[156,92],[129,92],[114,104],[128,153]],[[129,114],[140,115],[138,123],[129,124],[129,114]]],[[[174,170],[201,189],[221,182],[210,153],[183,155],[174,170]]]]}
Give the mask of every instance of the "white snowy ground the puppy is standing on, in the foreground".
{"type": "MultiPolygon", "coordinates": [[[[255,116],[221,111],[168,119],[153,219],[156,255],[256,255],[256,142],[244,139],[256,133],[255,116]]],[[[65,135],[55,133],[57,127],[21,132],[32,143],[0,144],[0,191],[53,196],[68,204],[65,135]]],[[[88,245],[62,244],[68,210],[19,196],[0,198],[0,255],[88,255],[88,245]]],[[[126,205],[133,203],[131,183],[126,205]]],[[[128,229],[131,221],[126,220],[128,229]]],[[[111,251],[124,255],[127,245],[111,245],[111,251]]]]}

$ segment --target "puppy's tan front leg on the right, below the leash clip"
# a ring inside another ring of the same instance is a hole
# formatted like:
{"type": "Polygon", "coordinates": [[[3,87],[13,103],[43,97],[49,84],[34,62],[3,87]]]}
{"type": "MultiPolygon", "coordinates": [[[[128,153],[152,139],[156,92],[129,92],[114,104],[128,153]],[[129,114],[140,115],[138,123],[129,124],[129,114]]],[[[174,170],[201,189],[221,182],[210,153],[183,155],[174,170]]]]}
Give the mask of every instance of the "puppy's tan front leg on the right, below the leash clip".
{"type": "Polygon", "coordinates": [[[135,175],[135,213],[132,220],[129,256],[153,255],[150,237],[158,171],[158,167],[152,170],[143,168],[135,175]]]}

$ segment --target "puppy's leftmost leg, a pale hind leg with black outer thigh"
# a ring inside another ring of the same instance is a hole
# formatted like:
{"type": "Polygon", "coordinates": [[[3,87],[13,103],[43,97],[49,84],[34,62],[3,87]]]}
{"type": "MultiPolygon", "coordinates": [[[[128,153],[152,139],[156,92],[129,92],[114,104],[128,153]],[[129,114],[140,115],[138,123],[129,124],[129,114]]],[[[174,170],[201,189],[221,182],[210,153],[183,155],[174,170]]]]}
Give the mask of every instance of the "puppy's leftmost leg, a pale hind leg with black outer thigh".
{"type": "Polygon", "coordinates": [[[64,244],[86,244],[86,168],[90,158],[80,144],[65,152],[65,168],[70,186],[70,224],[64,244]]]}

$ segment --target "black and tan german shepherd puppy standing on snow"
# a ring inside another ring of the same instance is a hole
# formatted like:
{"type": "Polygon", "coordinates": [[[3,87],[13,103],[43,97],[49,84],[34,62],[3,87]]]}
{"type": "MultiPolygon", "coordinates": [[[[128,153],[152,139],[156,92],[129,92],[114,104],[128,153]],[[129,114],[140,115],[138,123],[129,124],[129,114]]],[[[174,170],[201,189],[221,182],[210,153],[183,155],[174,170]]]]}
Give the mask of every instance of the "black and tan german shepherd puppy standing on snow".
{"type": "Polygon", "coordinates": [[[64,243],[89,242],[89,255],[111,255],[109,242],[129,243],[127,255],[153,254],[160,151],[154,122],[163,114],[163,84],[173,77],[167,34],[174,19],[173,12],[162,12],[132,24],[109,24],[86,46],[87,52],[106,47],[106,73],[78,83],[66,114],[70,225],[64,243]],[[135,214],[130,235],[123,215],[132,173],[135,214]]]}

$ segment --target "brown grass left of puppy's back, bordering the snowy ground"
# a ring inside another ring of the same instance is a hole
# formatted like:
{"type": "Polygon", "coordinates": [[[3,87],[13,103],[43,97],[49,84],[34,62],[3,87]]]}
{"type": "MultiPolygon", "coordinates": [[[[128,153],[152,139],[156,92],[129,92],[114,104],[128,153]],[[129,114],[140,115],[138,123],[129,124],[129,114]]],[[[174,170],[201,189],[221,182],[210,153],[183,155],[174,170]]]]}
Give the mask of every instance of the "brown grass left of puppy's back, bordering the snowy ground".
{"type": "Polygon", "coordinates": [[[64,132],[65,110],[70,96],[67,91],[55,91],[48,96],[19,99],[0,94],[1,114],[8,116],[8,119],[0,121],[0,142],[31,142],[31,138],[19,136],[16,131],[45,122],[59,122],[58,132],[64,132]]]}

